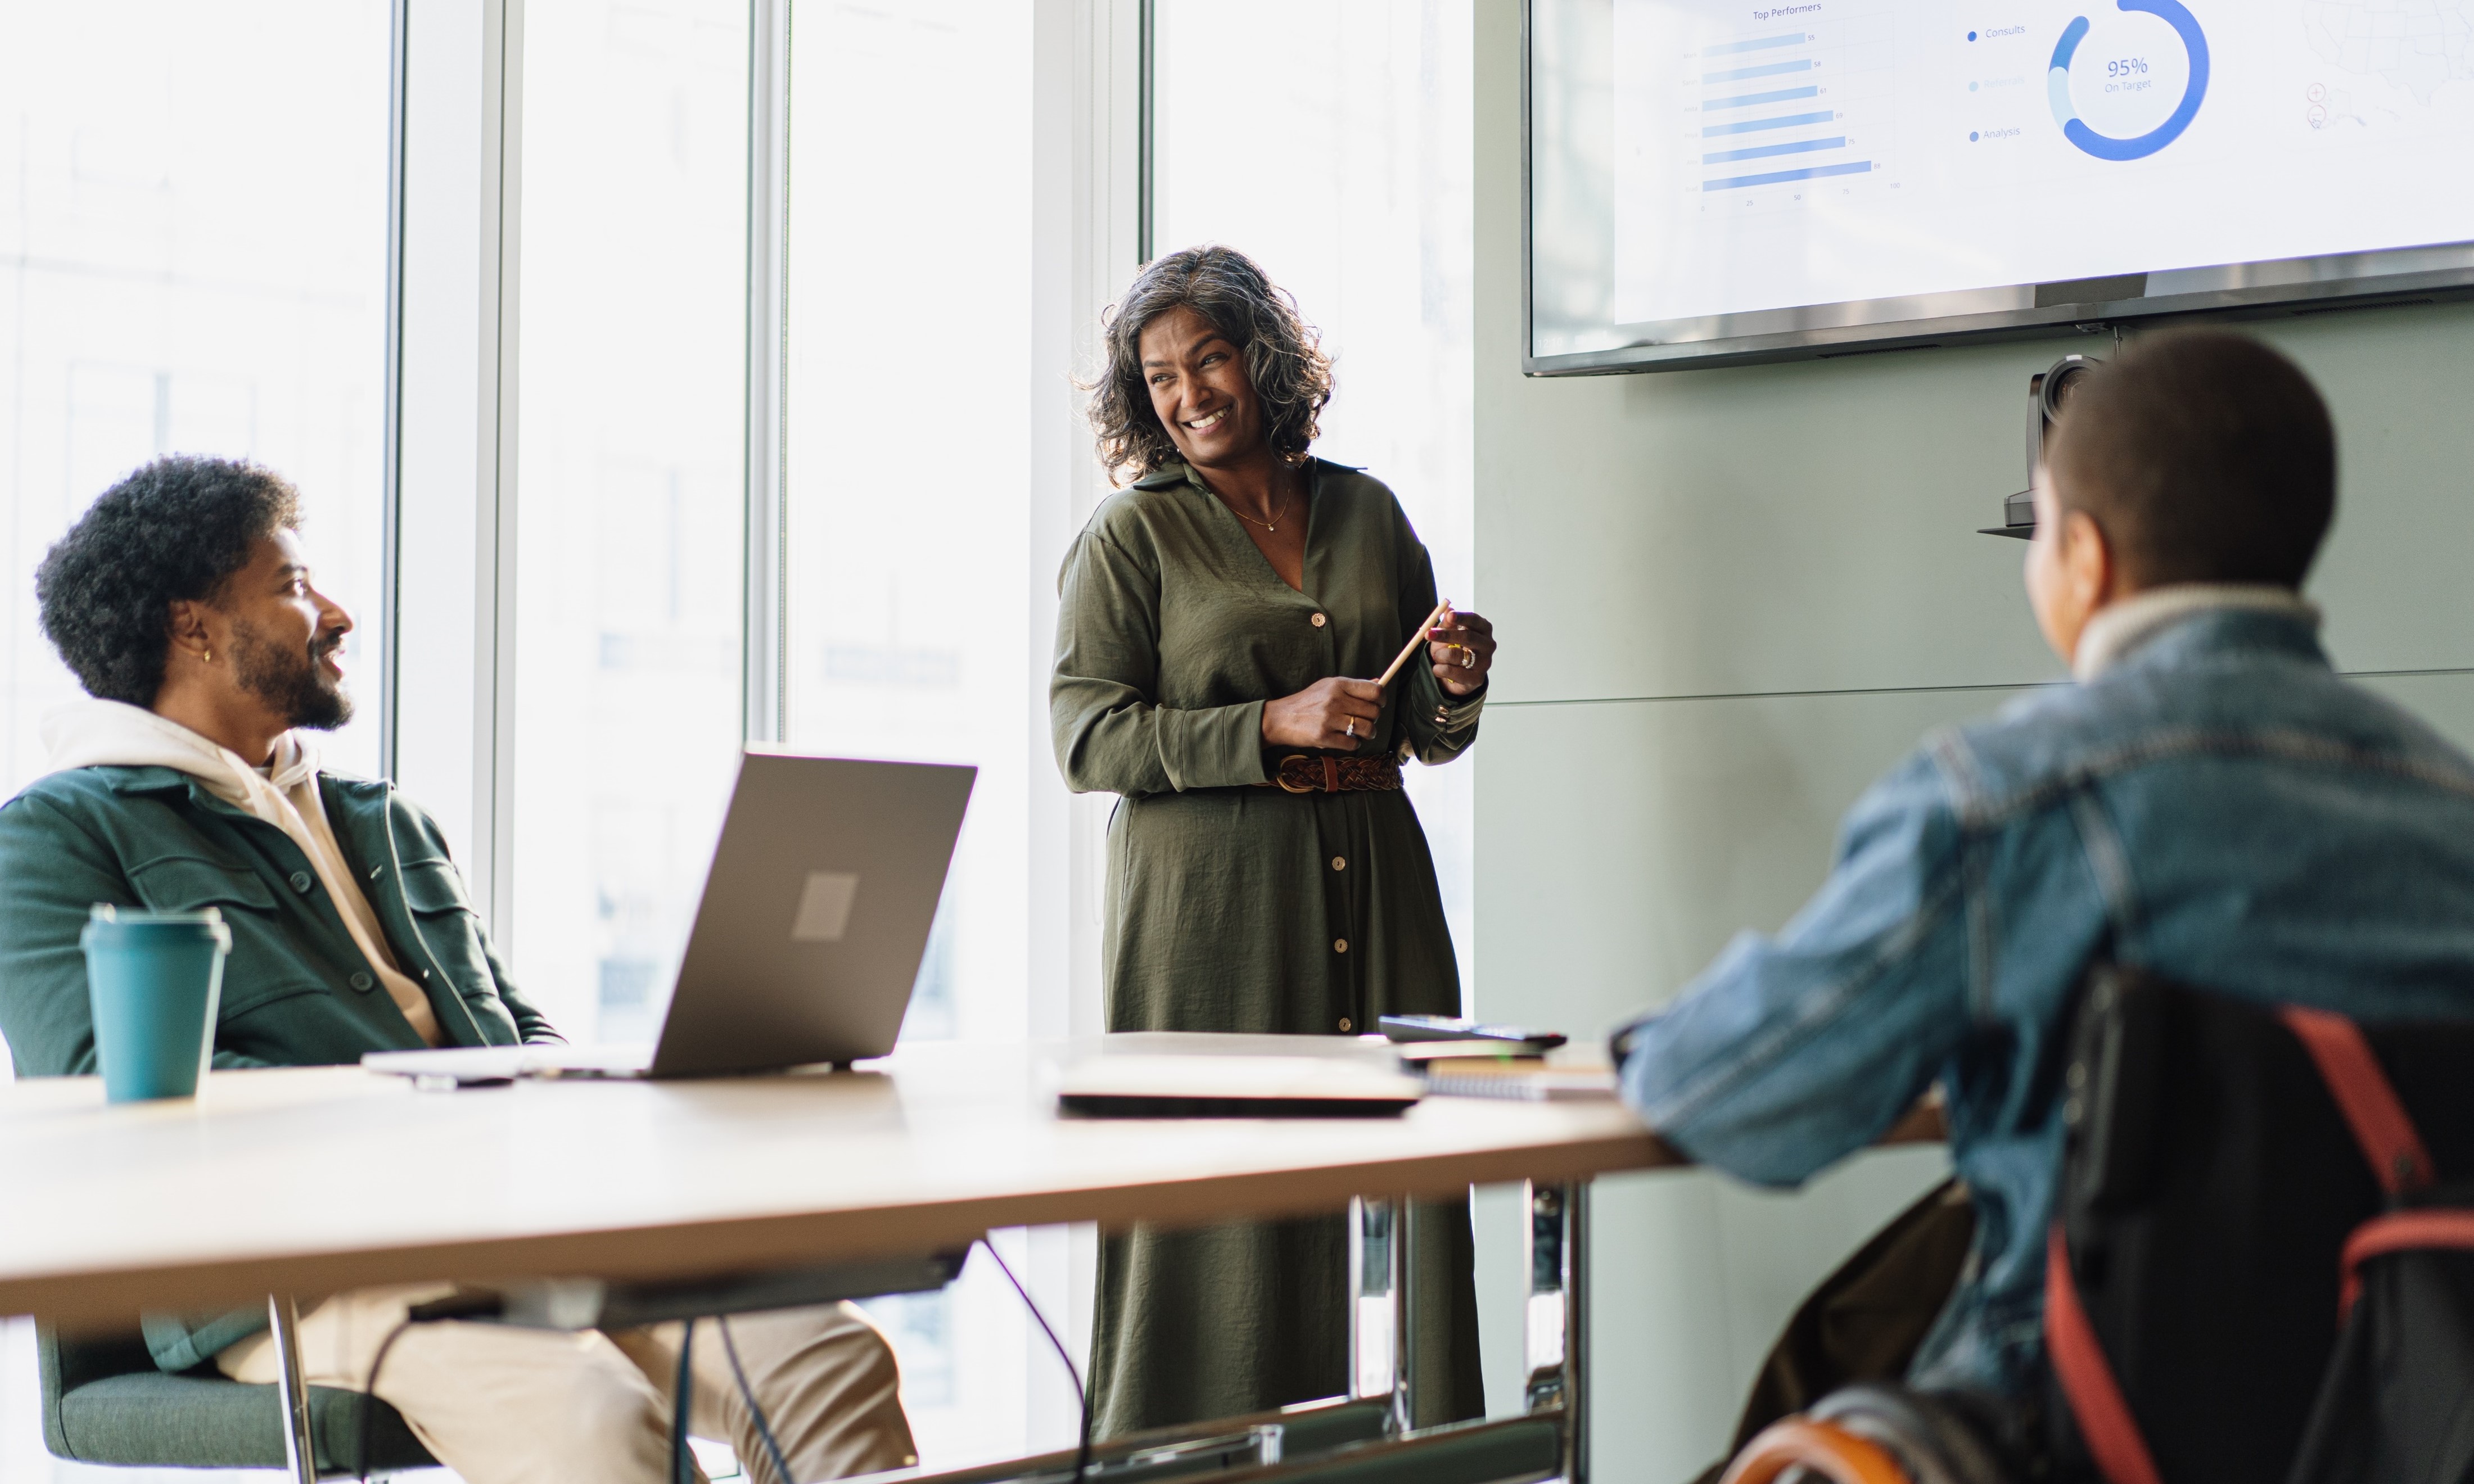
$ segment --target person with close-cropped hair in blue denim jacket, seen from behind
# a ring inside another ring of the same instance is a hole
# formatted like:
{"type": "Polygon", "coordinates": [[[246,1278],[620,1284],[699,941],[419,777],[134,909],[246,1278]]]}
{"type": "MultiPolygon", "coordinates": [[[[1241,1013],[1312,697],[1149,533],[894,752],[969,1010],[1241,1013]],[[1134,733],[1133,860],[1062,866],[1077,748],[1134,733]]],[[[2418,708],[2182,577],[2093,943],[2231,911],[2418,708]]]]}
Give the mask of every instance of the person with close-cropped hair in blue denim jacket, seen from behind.
{"type": "Polygon", "coordinates": [[[2036,480],[2026,591],[2076,685],[1935,732],[1776,935],[1618,1034],[1692,1158],[1796,1185],[1942,1083],[1974,1254],[1910,1378],[2029,1395],[2073,989],[2100,955],[2360,1019],[2474,1014],[2474,759],[2340,680],[2298,596],[2328,411],[2232,334],[2091,373],[2036,480]]]}

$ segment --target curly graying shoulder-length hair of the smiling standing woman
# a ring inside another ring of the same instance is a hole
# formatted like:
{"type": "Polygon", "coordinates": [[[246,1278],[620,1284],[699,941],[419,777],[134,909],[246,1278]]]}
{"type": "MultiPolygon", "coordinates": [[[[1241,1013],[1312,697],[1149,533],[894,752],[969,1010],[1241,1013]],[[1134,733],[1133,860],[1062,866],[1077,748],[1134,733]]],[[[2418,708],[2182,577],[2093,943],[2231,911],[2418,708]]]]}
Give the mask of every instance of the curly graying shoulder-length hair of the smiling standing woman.
{"type": "Polygon", "coordinates": [[[1304,463],[1321,433],[1316,413],[1331,401],[1331,356],[1321,351],[1321,334],[1296,314],[1296,299],[1274,287],[1252,257],[1207,245],[1150,260],[1126,297],[1101,314],[1108,366],[1086,391],[1108,477],[1131,470],[1141,480],[1180,458],[1143,383],[1143,329],[1170,309],[1192,309],[1244,354],[1272,450],[1304,463]]]}

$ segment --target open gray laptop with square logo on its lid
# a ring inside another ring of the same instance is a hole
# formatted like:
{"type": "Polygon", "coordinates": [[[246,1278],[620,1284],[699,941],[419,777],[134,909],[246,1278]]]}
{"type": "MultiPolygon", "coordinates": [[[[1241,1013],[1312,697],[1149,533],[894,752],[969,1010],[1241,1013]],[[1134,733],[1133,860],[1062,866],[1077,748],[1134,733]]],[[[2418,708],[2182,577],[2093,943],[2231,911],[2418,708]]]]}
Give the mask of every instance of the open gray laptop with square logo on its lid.
{"type": "Polygon", "coordinates": [[[893,1051],[980,769],[747,747],[651,1056],[371,1051],[413,1078],[725,1076],[893,1051]]]}

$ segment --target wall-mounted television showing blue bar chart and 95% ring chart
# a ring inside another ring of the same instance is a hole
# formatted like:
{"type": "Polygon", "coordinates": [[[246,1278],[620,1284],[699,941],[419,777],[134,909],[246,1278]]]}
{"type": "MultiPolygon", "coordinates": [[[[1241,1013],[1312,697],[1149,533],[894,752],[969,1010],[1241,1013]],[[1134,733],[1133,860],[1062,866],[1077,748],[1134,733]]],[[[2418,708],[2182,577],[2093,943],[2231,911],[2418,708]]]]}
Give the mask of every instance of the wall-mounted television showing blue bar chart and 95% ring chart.
{"type": "Polygon", "coordinates": [[[1531,373],[2474,292],[2474,0],[1524,0],[1531,373]]]}

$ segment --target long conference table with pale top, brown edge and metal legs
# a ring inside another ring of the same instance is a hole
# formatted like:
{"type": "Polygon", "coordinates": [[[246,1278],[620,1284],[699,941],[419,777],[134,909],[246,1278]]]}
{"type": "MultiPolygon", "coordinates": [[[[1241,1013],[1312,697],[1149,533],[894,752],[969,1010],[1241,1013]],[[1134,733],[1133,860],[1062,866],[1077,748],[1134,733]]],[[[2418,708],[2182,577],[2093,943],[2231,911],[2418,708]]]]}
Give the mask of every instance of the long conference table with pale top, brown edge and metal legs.
{"type": "MultiPolygon", "coordinates": [[[[195,1101],[106,1106],[96,1078],[20,1081],[0,1088],[0,1313],[126,1331],[141,1308],[277,1294],[282,1316],[289,1296],[366,1284],[745,1281],[955,1252],[997,1227],[1353,1209],[1356,1252],[1390,1244],[1351,1264],[1353,1395],[1388,1395],[1405,1432],[1413,1264],[1390,1214],[1529,1182],[1529,1410],[1559,1427],[1556,1472],[1586,1474],[1586,1185],[1685,1162],[1630,1111],[1427,1098],[1393,1118],[1059,1115],[1064,1066],[1094,1054],[1390,1061],[1380,1041],[1336,1036],[1143,1034],[670,1083],[423,1091],[341,1066],[213,1073],[195,1101]],[[1373,1291],[1378,1271],[1403,1281],[1373,1291]]],[[[287,1388],[285,1405],[299,1397],[287,1388]]]]}

